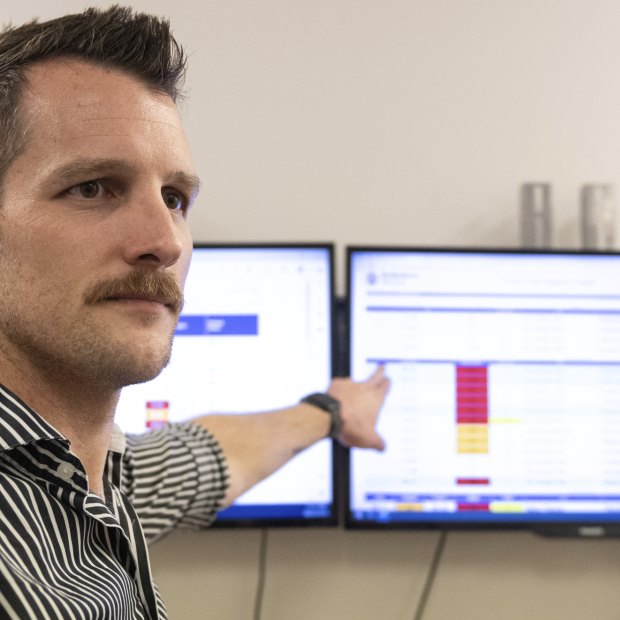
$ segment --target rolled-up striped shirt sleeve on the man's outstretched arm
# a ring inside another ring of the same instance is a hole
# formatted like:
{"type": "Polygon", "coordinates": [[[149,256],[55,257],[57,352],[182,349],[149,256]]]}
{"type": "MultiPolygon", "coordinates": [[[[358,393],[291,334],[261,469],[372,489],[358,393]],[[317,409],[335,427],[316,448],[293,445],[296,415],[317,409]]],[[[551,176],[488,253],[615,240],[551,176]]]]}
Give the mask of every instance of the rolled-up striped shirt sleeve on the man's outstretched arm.
{"type": "Polygon", "coordinates": [[[149,543],[175,528],[211,525],[228,490],[228,466],[215,437],[190,422],[127,435],[121,490],[149,543]]]}

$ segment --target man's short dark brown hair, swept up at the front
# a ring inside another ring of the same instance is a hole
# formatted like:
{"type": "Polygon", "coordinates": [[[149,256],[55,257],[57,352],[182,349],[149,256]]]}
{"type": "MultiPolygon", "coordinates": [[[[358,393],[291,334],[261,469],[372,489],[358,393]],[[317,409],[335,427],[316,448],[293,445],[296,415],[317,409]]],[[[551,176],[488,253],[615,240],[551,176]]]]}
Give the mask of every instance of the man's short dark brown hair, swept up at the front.
{"type": "Polygon", "coordinates": [[[174,102],[181,97],[187,63],[166,19],[128,7],[90,8],[0,32],[0,191],[7,169],[26,146],[27,127],[19,109],[25,71],[53,58],[123,71],[174,102]]]}

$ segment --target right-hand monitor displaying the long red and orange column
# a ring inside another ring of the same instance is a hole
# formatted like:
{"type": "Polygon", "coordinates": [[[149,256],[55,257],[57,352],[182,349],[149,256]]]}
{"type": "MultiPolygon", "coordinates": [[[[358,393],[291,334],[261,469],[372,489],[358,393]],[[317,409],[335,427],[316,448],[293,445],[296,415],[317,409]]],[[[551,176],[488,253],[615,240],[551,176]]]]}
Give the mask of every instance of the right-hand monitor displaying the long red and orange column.
{"type": "Polygon", "coordinates": [[[620,254],[348,248],[350,367],[385,364],[350,527],[620,530],[620,254]]]}

